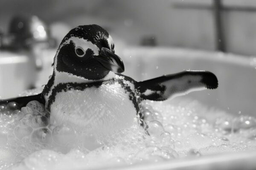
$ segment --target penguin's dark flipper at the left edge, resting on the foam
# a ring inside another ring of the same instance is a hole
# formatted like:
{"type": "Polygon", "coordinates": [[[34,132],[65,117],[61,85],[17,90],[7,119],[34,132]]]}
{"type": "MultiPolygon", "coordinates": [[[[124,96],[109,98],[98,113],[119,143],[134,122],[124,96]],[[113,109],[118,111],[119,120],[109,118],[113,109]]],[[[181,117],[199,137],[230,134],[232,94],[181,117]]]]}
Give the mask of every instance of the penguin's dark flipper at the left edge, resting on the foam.
{"type": "Polygon", "coordinates": [[[37,94],[33,96],[23,96],[23,97],[16,97],[11,99],[1,99],[0,105],[4,104],[7,105],[9,102],[16,102],[19,104],[20,107],[25,107],[26,104],[32,100],[37,100],[38,102],[45,105],[44,97],[42,97],[42,94],[37,94]]]}

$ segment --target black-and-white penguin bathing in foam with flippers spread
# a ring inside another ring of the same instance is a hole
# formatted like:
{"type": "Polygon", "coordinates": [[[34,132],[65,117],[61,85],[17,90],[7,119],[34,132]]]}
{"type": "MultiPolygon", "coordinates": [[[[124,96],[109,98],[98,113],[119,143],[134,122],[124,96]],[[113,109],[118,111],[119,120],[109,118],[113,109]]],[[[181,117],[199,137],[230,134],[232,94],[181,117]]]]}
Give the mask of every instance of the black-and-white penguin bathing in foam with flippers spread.
{"type": "Polygon", "coordinates": [[[121,74],[124,63],[114,46],[111,35],[98,25],[73,28],[59,45],[42,93],[0,104],[17,102],[23,107],[37,100],[49,111],[51,124],[70,123],[105,133],[143,119],[138,115],[142,100],[163,101],[218,87],[217,77],[209,71],[182,71],[137,82],[121,74]]]}

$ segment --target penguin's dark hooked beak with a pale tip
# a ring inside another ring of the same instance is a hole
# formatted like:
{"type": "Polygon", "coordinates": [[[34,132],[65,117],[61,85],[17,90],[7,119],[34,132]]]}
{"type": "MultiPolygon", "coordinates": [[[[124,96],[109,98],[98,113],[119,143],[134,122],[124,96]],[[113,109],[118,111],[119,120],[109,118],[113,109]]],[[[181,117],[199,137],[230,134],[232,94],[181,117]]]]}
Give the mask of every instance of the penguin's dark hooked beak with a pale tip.
{"type": "Polygon", "coordinates": [[[108,48],[102,47],[99,52],[99,57],[96,57],[96,59],[108,71],[113,71],[115,73],[122,73],[125,71],[122,59],[112,53],[108,48]]]}

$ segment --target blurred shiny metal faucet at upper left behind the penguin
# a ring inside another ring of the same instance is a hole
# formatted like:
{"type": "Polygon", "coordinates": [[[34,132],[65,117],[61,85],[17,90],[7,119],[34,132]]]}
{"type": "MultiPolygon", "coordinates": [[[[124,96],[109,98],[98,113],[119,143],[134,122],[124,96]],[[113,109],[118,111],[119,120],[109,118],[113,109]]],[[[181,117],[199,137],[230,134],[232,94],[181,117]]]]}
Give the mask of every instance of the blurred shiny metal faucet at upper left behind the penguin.
{"type": "Polygon", "coordinates": [[[43,66],[41,51],[55,47],[55,39],[50,37],[46,24],[35,15],[14,16],[8,34],[0,33],[0,49],[26,53],[38,71],[43,66]]]}

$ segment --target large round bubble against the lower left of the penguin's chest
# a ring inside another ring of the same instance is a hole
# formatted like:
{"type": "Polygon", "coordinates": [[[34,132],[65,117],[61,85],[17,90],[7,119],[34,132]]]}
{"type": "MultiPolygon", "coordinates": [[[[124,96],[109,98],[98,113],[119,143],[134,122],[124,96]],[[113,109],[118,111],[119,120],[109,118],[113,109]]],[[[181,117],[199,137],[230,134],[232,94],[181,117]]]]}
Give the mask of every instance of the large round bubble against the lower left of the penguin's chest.
{"type": "Polygon", "coordinates": [[[65,146],[76,140],[76,133],[72,126],[63,124],[52,130],[52,139],[55,143],[65,146]]]}

